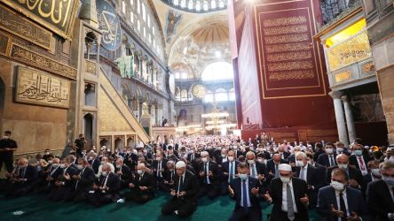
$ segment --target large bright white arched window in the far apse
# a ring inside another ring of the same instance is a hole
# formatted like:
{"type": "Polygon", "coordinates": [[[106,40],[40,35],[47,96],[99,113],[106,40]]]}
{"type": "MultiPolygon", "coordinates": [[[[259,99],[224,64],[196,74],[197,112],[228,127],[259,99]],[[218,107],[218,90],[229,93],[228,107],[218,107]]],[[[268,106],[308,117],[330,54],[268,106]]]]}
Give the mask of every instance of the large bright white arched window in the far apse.
{"type": "Polygon", "coordinates": [[[215,62],[208,65],[201,73],[201,80],[231,80],[232,65],[227,62],[215,62]]]}

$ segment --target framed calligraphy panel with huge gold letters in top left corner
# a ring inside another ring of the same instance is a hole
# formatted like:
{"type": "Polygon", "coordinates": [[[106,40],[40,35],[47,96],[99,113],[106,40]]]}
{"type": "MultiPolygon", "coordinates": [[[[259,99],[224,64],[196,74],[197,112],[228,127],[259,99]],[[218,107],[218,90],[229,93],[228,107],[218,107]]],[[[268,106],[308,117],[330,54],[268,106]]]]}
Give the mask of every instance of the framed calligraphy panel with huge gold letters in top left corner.
{"type": "Polygon", "coordinates": [[[71,37],[77,0],[0,0],[57,34],[71,37]]]}

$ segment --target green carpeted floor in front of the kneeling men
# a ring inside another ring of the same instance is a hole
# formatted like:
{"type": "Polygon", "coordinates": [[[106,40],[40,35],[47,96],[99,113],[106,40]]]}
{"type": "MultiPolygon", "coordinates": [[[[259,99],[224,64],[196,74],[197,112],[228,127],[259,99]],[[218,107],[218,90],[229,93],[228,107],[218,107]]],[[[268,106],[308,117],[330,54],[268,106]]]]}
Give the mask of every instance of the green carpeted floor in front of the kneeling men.
{"type": "MultiPolygon", "coordinates": [[[[94,209],[91,205],[72,202],[49,202],[43,194],[31,194],[25,197],[12,200],[4,200],[0,196],[0,220],[56,220],[56,221],[78,221],[78,220],[181,220],[175,216],[163,217],[161,207],[169,199],[168,194],[158,192],[154,200],[144,205],[134,202],[112,203],[94,209]],[[22,211],[20,215],[16,215],[22,211]],[[16,214],[14,214],[16,213],[16,214]]],[[[262,203],[264,210],[264,220],[267,220],[267,214],[271,212],[272,206],[262,203]]],[[[218,197],[214,201],[208,198],[201,198],[199,207],[192,217],[185,220],[228,220],[232,213],[234,202],[228,196],[218,197]]],[[[311,220],[319,220],[318,215],[311,211],[311,220]]]]}

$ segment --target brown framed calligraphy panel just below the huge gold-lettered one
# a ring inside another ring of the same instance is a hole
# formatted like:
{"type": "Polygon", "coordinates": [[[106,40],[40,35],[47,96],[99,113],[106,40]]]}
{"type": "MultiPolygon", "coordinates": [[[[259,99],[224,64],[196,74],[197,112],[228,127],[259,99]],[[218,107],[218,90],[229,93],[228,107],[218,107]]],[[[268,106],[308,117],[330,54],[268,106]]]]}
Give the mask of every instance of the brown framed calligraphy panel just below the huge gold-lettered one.
{"type": "Polygon", "coordinates": [[[51,50],[51,32],[38,27],[28,19],[21,18],[3,5],[0,5],[0,23],[2,24],[0,28],[5,31],[18,35],[46,50],[51,50]]]}

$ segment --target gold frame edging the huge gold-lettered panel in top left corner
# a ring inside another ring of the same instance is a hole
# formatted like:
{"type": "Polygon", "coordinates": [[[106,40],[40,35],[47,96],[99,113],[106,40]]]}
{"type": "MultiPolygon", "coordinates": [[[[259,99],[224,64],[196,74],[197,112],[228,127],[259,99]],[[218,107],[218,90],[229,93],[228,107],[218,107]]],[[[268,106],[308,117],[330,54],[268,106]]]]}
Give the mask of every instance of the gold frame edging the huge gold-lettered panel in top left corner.
{"type": "MultiPolygon", "coordinates": [[[[28,1],[28,0],[26,0],[26,1],[28,1]]],[[[43,1],[43,0],[41,0],[41,1],[43,1]]],[[[20,13],[24,14],[26,17],[35,20],[35,22],[43,25],[43,27],[46,27],[49,30],[53,31],[54,33],[59,34],[61,37],[67,39],[68,41],[71,41],[71,37],[73,34],[72,32],[74,29],[75,15],[76,15],[76,11],[79,6],[79,1],[78,0],[69,0],[69,1],[74,1],[73,5],[71,6],[72,11],[70,12],[70,18],[68,18],[68,19],[70,19],[70,23],[68,24],[68,27],[66,28],[67,30],[62,31],[58,27],[52,26],[49,22],[47,22],[47,21],[43,20],[42,18],[40,18],[39,16],[35,15],[35,13],[31,13],[31,11],[28,11],[27,9],[20,6],[19,4],[13,3],[12,0],[0,0],[0,2],[9,5],[13,9],[15,9],[16,11],[19,11],[20,13]]]]}

